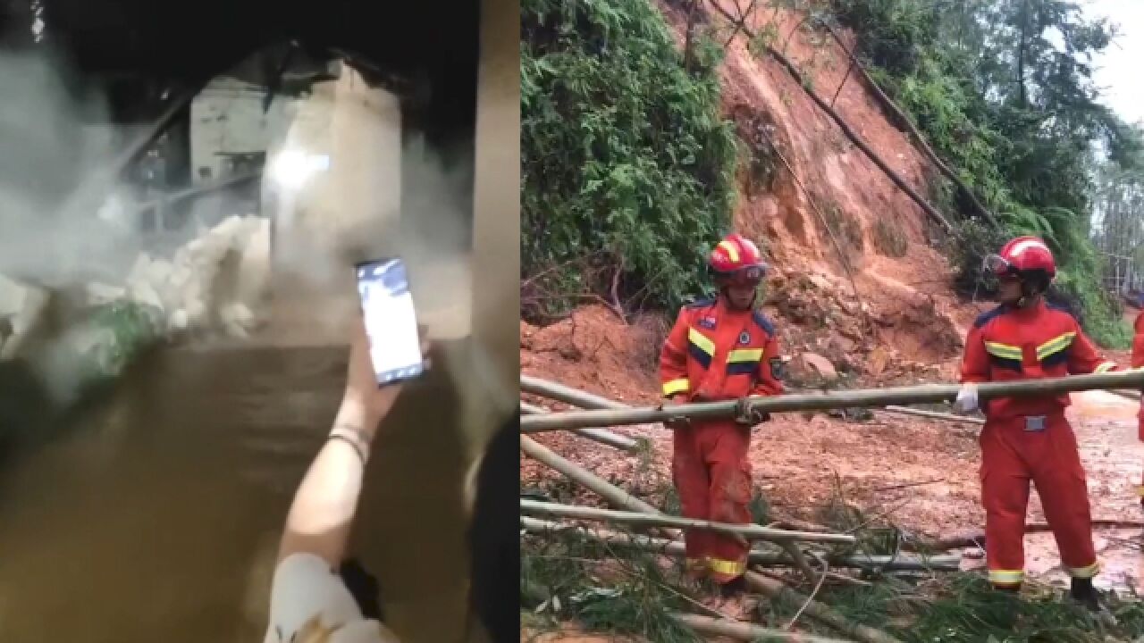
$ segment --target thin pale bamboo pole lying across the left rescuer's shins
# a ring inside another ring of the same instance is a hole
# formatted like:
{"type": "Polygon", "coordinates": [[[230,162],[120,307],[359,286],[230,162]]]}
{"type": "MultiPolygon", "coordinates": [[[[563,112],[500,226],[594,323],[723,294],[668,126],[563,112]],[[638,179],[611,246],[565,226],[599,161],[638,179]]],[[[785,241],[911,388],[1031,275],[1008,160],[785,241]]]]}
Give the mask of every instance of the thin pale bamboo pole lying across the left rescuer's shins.
{"type": "Polygon", "coordinates": [[[527,500],[524,498],[521,499],[521,513],[579,518],[582,521],[623,523],[629,525],[702,529],[717,533],[741,535],[744,538],[755,540],[769,540],[778,543],[791,541],[855,542],[855,537],[845,533],[788,531],[758,525],[737,525],[731,523],[716,523],[712,521],[697,521],[694,518],[683,518],[680,516],[668,516],[664,514],[648,515],[646,513],[641,511],[615,511],[612,509],[598,509],[596,507],[578,507],[575,505],[559,505],[557,502],[539,502],[537,500],[527,500]]]}

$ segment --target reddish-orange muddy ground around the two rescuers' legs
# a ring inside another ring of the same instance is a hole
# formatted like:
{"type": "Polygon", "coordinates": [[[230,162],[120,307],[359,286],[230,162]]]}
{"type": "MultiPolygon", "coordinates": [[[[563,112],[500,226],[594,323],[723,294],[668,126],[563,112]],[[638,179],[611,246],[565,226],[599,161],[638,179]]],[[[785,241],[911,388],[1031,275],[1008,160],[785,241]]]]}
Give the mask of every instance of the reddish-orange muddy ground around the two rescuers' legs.
{"type": "MultiPolygon", "coordinates": [[[[654,404],[661,326],[646,319],[621,326],[603,308],[581,309],[547,328],[522,324],[522,372],[628,404],[654,404]]],[[[1128,358],[1125,352],[1110,356],[1122,363],[1128,358]]],[[[1135,402],[1107,392],[1073,396],[1070,416],[1088,470],[1094,518],[1144,518],[1135,494],[1144,468],[1144,446],[1136,438],[1137,408],[1135,402]]],[[[643,458],[622,455],[567,432],[542,434],[538,439],[604,478],[661,500],[670,486],[670,434],[658,424],[614,430],[649,438],[652,452],[643,458]]],[[[931,537],[974,533],[984,527],[977,432],[975,424],[879,412],[864,422],[778,414],[756,429],[750,447],[754,485],[779,517],[819,519],[820,508],[836,497],[837,481],[845,500],[867,516],[885,515],[903,529],[931,537]]],[[[558,481],[557,474],[532,460],[522,459],[521,468],[524,486],[551,487],[558,481]]],[[[569,494],[565,500],[599,503],[590,492],[557,486],[569,494]]],[[[1044,521],[1035,491],[1028,521],[1044,521]]],[[[1138,584],[1144,578],[1139,537],[1139,529],[1098,531],[1106,585],[1138,584]]],[[[1030,534],[1027,542],[1028,572],[1063,579],[1051,534],[1030,534]]],[[[967,569],[975,564],[968,559],[967,569]]]]}

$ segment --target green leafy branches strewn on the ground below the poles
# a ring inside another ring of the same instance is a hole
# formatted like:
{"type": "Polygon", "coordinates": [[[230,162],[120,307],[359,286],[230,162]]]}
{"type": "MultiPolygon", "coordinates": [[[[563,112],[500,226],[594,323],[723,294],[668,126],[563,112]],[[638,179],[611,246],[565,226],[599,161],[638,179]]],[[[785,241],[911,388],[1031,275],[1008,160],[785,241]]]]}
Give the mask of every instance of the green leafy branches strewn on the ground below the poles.
{"type": "MultiPolygon", "coordinates": [[[[670,493],[670,487],[662,493],[670,493]]],[[[771,519],[762,495],[755,495],[752,513],[756,522],[771,519]]],[[[847,502],[841,486],[816,517],[858,537],[857,547],[839,546],[833,554],[896,555],[909,541],[907,532],[847,502]]],[[[668,616],[697,611],[696,602],[710,592],[689,580],[678,559],[564,532],[524,538],[521,570],[522,624],[531,632],[574,621],[590,632],[637,635],[646,641],[700,641],[668,616]]],[[[787,578],[804,595],[812,589],[804,582],[800,586],[794,573],[787,578]]],[[[1032,585],[1020,596],[1012,596],[993,592],[984,575],[975,572],[892,574],[867,570],[858,578],[869,585],[827,584],[816,600],[907,643],[1099,643],[1144,636],[1144,602],[1134,593],[1109,597],[1110,611],[1118,620],[1109,627],[1080,605],[1063,600],[1062,588],[1032,585]]],[[[764,600],[755,618],[764,626],[781,628],[801,608],[801,602],[764,600]]],[[[799,629],[837,636],[805,614],[799,629]]]]}

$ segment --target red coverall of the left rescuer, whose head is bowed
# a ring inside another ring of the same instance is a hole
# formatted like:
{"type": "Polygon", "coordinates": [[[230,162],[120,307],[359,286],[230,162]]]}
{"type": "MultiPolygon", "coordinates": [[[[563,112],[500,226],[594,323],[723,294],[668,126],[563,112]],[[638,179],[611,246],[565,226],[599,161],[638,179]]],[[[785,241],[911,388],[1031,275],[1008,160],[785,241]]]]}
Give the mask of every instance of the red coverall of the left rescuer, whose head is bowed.
{"type": "MultiPolygon", "coordinates": [[[[660,355],[664,396],[737,399],[782,392],[774,326],[755,310],[729,308],[723,297],[680,311],[660,355]]],[[[674,435],[672,477],[684,517],[750,522],[750,427],[732,420],[692,422],[674,435]]],[[[704,530],[684,534],[688,567],[717,582],[742,575],[748,543],[704,530]]]]}

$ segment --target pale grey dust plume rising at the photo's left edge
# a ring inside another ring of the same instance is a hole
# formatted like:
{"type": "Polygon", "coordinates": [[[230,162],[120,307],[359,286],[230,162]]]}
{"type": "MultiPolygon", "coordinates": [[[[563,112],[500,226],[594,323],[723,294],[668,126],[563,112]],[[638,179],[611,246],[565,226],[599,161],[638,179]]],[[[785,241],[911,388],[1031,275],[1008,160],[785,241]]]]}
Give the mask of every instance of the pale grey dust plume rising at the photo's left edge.
{"type": "Polygon", "coordinates": [[[0,57],[0,275],[48,288],[122,278],[141,247],[95,216],[117,191],[104,98],[49,54],[0,57]],[[94,188],[94,189],[93,189],[94,188]]]}

